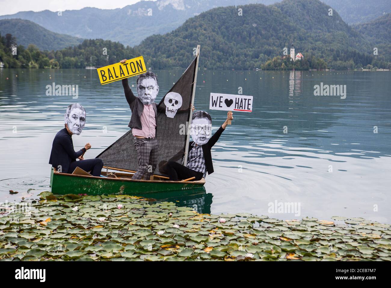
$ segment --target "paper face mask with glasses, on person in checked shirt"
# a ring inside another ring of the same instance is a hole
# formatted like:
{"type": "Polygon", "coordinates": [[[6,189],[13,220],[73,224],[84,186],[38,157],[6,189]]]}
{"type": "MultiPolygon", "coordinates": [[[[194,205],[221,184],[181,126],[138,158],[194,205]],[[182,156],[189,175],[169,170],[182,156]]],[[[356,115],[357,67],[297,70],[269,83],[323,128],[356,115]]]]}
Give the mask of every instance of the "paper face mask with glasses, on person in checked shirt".
{"type": "Polygon", "coordinates": [[[212,131],[212,118],[205,111],[196,111],[193,114],[191,136],[195,143],[204,145],[208,142],[212,131]]]}

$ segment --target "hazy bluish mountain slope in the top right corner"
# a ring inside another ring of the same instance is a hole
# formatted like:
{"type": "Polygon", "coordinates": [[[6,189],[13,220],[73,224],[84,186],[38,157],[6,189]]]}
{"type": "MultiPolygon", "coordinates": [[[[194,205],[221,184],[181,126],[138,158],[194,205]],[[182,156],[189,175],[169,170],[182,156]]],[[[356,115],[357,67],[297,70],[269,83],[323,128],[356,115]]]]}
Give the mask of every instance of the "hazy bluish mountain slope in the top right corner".
{"type": "Polygon", "coordinates": [[[390,0],[322,0],[338,11],[348,24],[369,22],[383,14],[391,13],[390,0]]]}

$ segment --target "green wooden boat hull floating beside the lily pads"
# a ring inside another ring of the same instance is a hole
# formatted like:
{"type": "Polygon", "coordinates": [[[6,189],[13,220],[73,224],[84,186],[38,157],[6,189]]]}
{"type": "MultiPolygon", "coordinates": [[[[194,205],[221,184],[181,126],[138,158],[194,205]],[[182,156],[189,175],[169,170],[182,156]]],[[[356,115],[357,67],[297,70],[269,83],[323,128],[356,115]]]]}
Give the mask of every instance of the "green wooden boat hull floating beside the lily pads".
{"type": "MultiPolygon", "coordinates": [[[[106,176],[106,172],[102,171],[106,176]]],[[[131,194],[145,195],[161,192],[178,192],[202,188],[205,179],[199,181],[168,181],[158,180],[132,180],[132,174],[116,173],[118,178],[94,177],[75,174],[59,173],[52,168],[50,174],[50,189],[53,194],[131,194]]]]}

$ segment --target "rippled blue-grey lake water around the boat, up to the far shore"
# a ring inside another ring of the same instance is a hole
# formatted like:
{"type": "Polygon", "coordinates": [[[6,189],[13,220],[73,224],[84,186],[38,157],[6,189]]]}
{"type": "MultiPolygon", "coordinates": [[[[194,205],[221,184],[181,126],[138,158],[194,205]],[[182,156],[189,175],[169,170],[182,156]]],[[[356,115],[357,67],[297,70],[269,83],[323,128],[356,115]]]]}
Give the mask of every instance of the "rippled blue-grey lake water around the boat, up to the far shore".
{"type": "MultiPolygon", "coordinates": [[[[183,71],[154,72],[160,101],[183,71]]],[[[195,107],[210,112],[213,132],[226,112],[209,110],[210,92],[239,87],[254,97],[253,112],[235,112],[214,146],[206,193],[170,200],[213,214],[391,222],[391,72],[199,71],[195,107]],[[346,85],[346,99],[314,96],[321,82],[346,85]],[[274,213],[270,203],[294,203],[300,215],[274,213]]],[[[91,143],[86,159],[128,131],[121,82],[100,86],[94,70],[0,69],[0,202],[48,190],[52,140],[74,102],[87,112],[83,133],[73,136],[75,150],[91,143]],[[52,82],[78,85],[78,98],[46,96],[52,82]]]]}

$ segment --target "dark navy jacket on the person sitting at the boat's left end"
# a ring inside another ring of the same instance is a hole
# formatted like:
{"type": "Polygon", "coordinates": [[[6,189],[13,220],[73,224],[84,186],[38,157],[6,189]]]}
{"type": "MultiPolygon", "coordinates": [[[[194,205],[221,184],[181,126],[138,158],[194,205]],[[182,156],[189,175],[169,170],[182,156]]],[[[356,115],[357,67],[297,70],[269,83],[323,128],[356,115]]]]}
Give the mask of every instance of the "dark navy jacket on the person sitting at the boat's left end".
{"type": "Polygon", "coordinates": [[[61,129],[54,137],[49,164],[52,164],[52,167],[57,170],[59,170],[59,165],[61,165],[61,171],[59,172],[68,173],[69,164],[76,161],[76,158],[79,158],[84,152],[86,152],[84,147],[75,152],[72,136],[69,135],[66,128],[61,129]]]}

